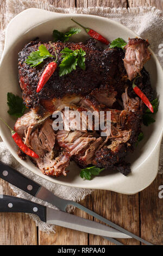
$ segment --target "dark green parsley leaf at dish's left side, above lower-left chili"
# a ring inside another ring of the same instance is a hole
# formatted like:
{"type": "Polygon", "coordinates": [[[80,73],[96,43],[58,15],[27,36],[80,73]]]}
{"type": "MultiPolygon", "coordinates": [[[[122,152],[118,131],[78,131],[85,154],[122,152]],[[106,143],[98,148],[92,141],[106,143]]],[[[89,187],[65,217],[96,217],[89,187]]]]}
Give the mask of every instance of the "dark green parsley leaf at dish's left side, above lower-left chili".
{"type": "Polygon", "coordinates": [[[13,115],[14,117],[22,117],[24,111],[26,110],[26,106],[23,104],[23,100],[19,96],[15,96],[13,93],[7,94],[8,113],[13,115]]]}

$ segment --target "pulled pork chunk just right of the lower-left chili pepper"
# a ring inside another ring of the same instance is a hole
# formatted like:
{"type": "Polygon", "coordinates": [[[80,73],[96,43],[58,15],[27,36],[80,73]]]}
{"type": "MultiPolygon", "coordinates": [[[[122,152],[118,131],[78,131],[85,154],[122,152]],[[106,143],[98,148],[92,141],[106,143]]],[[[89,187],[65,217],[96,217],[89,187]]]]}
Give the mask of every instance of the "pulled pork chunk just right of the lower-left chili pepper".
{"type": "MultiPolygon", "coordinates": [[[[30,146],[39,155],[35,162],[40,170],[47,175],[66,175],[66,167],[69,164],[70,156],[62,151],[55,157],[58,147],[55,147],[55,133],[52,128],[53,121],[46,119],[40,129],[37,127],[30,136],[30,146]]],[[[58,153],[58,152],[57,152],[58,153]]]]}

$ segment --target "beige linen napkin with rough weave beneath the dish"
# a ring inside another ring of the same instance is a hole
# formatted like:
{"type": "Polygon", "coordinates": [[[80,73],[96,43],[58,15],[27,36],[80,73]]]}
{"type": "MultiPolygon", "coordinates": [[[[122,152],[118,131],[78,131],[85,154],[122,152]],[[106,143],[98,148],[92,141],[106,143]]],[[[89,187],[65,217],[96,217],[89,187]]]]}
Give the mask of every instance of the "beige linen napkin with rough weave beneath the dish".
{"type": "MultiPolygon", "coordinates": [[[[78,13],[78,14],[92,14],[103,17],[108,17],[109,19],[118,21],[122,23],[124,26],[127,26],[132,31],[139,34],[142,38],[149,40],[151,44],[151,48],[159,58],[161,65],[163,66],[163,57],[159,56],[159,45],[163,43],[162,39],[162,29],[163,29],[163,20],[161,17],[161,11],[156,8],[103,8],[103,7],[91,7],[91,8],[74,8],[74,9],[61,9],[55,8],[53,5],[48,5],[46,1],[42,1],[42,3],[32,2],[32,1],[20,1],[20,0],[7,0],[5,5],[5,13],[2,13],[1,10],[1,34],[0,34],[0,56],[3,51],[4,45],[4,36],[5,36],[5,28],[8,25],[8,22],[16,16],[21,11],[28,8],[41,8],[49,11],[55,11],[57,13],[78,13]]],[[[0,142],[0,159],[4,163],[9,164],[14,167],[24,175],[28,176],[30,179],[35,180],[42,186],[45,186],[54,194],[61,198],[71,199],[79,201],[83,199],[87,194],[91,193],[91,190],[86,190],[84,188],[73,188],[66,187],[57,184],[53,184],[52,182],[46,181],[44,179],[39,178],[39,176],[34,175],[28,169],[21,166],[14,157],[9,153],[8,149],[5,147],[3,142],[0,142]]],[[[163,144],[161,147],[161,155],[160,155],[160,167],[159,170],[163,173],[163,144]]],[[[39,199],[35,199],[29,194],[19,190],[16,187],[11,186],[12,189],[17,193],[18,197],[26,198],[29,200],[33,200],[37,203],[45,204],[39,199]]],[[[45,205],[54,206],[46,203],[45,205]]],[[[69,209],[70,211],[71,209],[69,209]]],[[[42,223],[39,218],[35,215],[31,215],[34,218],[39,228],[44,231],[54,231],[54,225],[47,225],[42,223]]]]}

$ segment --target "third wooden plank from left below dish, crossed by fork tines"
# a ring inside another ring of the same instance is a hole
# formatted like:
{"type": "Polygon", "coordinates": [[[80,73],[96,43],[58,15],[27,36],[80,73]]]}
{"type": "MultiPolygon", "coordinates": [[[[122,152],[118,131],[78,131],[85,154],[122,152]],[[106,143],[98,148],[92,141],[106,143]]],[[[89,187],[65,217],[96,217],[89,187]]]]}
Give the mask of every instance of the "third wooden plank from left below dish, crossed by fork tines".
{"type": "MultiPolygon", "coordinates": [[[[111,191],[97,190],[92,193],[93,211],[108,220],[126,228],[135,235],[140,235],[139,194],[125,195],[111,191]]],[[[98,220],[95,219],[98,222],[98,220]]],[[[113,245],[101,236],[90,235],[89,245],[113,245]]],[[[119,239],[125,245],[139,245],[134,239],[119,239]]]]}

